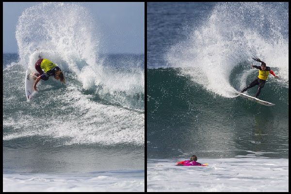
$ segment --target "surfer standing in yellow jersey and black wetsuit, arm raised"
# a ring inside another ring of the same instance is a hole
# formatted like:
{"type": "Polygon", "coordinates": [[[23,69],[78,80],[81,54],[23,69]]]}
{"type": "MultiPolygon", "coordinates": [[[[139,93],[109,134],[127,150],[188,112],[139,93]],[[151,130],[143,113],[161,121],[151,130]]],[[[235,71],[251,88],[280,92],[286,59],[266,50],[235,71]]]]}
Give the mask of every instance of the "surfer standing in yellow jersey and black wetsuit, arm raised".
{"type": "Polygon", "coordinates": [[[278,76],[276,76],[274,74],[274,72],[271,70],[270,67],[266,66],[265,62],[261,61],[258,57],[256,58],[252,58],[255,61],[258,61],[261,63],[260,66],[256,66],[256,65],[252,65],[252,69],[253,68],[257,68],[259,69],[259,76],[256,80],[252,81],[250,84],[248,84],[246,87],[244,87],[241,91],[241,93],[247,91],[247,89],[254,87],[255,85],[259,85],[258,87],[258,91],[255,97],[259,96],[259,93],[261,91],[261,89],[264,87],[265,82],[269,76],[269,73],[271,73],[273,76],[275,76],[276,78],[279,78],[278,76]]]}

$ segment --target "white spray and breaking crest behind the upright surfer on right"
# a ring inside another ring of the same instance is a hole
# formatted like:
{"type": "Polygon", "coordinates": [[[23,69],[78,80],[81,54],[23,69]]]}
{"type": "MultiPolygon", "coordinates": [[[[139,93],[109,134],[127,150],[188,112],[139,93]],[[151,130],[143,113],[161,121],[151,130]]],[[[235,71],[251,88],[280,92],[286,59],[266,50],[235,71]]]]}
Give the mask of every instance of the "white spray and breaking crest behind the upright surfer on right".
{"type": "Polygon", "coordinates": [[[182,73],[205,89],[234,97],[235,88],[229,81],[232,72],[241,66],[246,71],[237,77],[246,76],[251,64],[260,65],[251,58],[258,56],[288,88],[288,12],[284,2],[218,3],[165,53],[167,66],[183,67],[182,73]]]}

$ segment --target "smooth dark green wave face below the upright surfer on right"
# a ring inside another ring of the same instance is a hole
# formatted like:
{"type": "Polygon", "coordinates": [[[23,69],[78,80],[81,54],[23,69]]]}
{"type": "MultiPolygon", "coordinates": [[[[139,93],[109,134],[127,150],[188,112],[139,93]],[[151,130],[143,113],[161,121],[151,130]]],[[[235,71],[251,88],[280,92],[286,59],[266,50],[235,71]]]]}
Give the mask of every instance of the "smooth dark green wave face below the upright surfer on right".
{"type": "MultiPolygon", "coordinates": [[[[190,69],[193,70],[194,69],[190,69]]],[[[289,157],[289,91],[268,80],[260,105],[242,97],[207,90],[184,72],[189,68],[147,69],[147,158],[232,158],[238,155],[289,157]]],[[[243,64],[230,74],[230,87],[252,81],[257,72],[236,81],[243,64]]],[[[254,95],[257,87],[246,94],[254,95]]]]}

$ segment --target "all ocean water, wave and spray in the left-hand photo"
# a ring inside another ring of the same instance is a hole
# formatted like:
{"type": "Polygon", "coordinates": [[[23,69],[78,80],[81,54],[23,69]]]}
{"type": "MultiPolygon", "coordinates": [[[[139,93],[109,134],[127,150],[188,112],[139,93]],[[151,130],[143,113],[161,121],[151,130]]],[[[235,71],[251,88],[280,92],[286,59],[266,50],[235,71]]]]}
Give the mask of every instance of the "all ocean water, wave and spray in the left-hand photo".
{"type": "Polygon", "coordinates": [[[18,53],[3,54],[4,192],[145,191],[145,55],[100,53],[96,28],[72,3],[19,17],[18,53]],[[65,84],[39,81],[27,101],[38,55],[65,84]]]}

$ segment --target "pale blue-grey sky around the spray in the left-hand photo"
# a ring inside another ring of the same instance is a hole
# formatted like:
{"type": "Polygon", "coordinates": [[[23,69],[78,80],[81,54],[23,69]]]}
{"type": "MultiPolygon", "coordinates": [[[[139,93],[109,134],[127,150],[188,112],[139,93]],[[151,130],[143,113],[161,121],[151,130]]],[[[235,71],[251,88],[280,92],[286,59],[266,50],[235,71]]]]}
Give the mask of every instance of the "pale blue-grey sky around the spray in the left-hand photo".
{"type": "MultiPolygon", "coordinates": [[[[18,17],[38,2],[3,2],[3,53],[17,53],[18,17]]],[[[145,53],[144,2],[80,2],[100,24],[106,53],[145,53]],[[134,29],[134,31],[132,31],[134,29]],[[106,44],[105,44],[106,43],[106,44]]]]}

